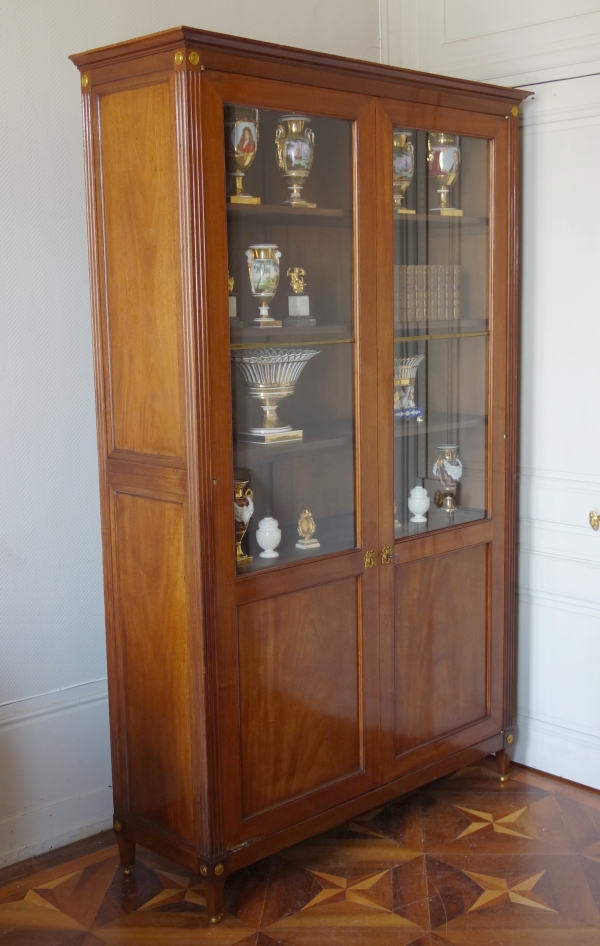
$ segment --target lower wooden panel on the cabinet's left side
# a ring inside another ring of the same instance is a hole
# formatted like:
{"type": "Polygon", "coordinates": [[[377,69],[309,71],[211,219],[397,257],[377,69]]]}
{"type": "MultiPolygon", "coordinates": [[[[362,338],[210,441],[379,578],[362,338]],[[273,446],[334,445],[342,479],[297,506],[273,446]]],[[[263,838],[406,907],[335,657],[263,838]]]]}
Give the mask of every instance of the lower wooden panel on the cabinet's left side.
{"type": "Polygon", "coordinates": [[[113,502],[129,810],[191,839],[184,508],[128,493],[113,502]]]}

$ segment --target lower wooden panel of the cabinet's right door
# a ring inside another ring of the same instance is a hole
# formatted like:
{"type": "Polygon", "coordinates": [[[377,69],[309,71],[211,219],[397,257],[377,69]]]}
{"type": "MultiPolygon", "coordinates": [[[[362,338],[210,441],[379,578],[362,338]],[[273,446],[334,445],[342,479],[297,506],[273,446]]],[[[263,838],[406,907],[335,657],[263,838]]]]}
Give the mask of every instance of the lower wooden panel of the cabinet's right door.
{"type": "Polygon", "coordinates": [[[396,568],[397,756],[487,713],[487,550],[396,568]]]}

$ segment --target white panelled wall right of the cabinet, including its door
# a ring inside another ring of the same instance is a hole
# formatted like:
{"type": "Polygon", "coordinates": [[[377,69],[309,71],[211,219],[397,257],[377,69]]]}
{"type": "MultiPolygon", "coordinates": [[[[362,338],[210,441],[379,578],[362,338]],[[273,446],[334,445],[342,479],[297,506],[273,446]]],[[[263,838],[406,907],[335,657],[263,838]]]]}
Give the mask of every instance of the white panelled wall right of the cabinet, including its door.
{"type": "Polygon", "coordinates": [[[600,3],[382,0],[396,65],[523,107],[518,761],[600,788],[600,3]],[[569,78],[568,78],[569,77],[569,78]],[[532,84],[542,83],[542,84],[532,84]]]}

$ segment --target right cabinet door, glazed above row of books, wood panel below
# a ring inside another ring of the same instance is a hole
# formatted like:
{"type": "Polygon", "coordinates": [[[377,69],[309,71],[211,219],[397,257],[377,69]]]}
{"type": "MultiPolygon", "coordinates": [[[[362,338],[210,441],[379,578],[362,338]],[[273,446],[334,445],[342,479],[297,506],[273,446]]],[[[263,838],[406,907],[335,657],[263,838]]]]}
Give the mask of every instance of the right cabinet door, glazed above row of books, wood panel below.
{"type": "Polygon", "coordinates": [[[378,113],[387,777],[505,725],[509,122],[378,113]]]}

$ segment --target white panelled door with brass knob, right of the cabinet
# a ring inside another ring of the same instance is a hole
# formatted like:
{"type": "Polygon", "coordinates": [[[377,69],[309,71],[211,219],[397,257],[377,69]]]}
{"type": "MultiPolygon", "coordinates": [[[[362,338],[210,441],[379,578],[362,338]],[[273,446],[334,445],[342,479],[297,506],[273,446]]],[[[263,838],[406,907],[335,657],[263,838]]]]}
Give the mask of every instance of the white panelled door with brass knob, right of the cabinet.
{"type": "Polygon", "coordinates": [[[524,106],[518,757],[600,787],[600,76],[524,106]]]}

